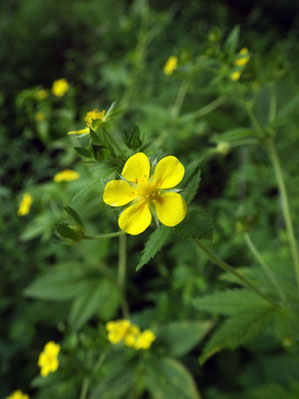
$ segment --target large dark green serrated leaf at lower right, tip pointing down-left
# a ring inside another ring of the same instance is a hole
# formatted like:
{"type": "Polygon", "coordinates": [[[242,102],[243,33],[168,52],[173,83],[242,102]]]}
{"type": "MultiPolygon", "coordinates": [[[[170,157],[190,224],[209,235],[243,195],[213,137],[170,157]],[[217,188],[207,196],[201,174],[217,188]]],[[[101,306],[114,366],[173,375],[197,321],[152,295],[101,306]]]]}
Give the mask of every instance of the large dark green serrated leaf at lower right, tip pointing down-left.
{"type": "Polygon", "coordinates": [[[200,363],[224,348],[236,349],[255,338],[271,324],[275,312],[274,306],[261,302],[256,307],[234,313],[212,335],[200,356],[200,363]]]}

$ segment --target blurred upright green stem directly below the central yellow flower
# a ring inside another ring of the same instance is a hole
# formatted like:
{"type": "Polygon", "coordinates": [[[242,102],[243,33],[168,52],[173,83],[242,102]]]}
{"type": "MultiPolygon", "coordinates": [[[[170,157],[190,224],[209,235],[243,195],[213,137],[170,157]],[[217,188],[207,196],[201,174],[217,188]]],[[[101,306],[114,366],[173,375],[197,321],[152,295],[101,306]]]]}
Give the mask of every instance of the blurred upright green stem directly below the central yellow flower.
{"type": "Polygon", "coordinates": [[[129,307],[126,298],[126,267],[127,267],[127,236],[119,237],[119,258],[118,258],[118,286],[121,295],[121,307],[124,318],[129,318],[129,307]]]}

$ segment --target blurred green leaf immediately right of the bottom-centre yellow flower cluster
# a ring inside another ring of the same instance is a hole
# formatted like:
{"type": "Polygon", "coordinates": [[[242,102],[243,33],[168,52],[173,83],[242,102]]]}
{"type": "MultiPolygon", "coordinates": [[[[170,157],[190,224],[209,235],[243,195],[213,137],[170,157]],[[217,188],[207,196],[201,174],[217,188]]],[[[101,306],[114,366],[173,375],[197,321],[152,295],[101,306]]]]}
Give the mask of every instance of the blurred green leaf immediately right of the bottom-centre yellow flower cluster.
{"type": "Polygon", "coordinates": [[[174,321],[161,326],[158,330],[159,341],[164,343],[173,356],[182,356],[190,352],[210,331],[213,322],[174,321]]]}

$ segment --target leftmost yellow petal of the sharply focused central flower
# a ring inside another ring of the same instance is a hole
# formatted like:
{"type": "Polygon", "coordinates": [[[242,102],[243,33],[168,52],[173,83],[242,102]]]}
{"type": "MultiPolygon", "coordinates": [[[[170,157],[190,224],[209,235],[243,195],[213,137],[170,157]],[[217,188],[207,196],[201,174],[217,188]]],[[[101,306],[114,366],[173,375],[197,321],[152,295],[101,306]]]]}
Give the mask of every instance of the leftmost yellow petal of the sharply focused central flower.
{"type": "Polygon", "coordinates": [[[124,180],[111,180],[106,184],[103,200],[110,206],[122,206],[137,197],[136,190],[124,180]]]}

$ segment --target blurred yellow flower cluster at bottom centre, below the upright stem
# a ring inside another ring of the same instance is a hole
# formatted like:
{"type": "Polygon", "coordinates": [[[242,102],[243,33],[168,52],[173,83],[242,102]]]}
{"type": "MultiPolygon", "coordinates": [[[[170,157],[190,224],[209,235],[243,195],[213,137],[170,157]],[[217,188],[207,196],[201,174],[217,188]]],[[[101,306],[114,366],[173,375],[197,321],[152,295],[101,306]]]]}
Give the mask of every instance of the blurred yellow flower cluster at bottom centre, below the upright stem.
{"type": "Polygon", "coordinates": [[[136,350],[149,349],[156,339],[151,330],[141,332],[140,328],[135,324],[131,324],[129,320],[109,321],[106,329],[108,331],[108,340],[112,344],[118,344],[123,341],[126,346],[136,350]]]}

